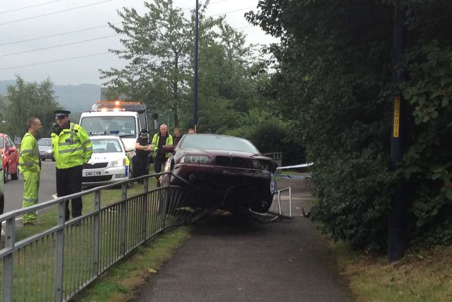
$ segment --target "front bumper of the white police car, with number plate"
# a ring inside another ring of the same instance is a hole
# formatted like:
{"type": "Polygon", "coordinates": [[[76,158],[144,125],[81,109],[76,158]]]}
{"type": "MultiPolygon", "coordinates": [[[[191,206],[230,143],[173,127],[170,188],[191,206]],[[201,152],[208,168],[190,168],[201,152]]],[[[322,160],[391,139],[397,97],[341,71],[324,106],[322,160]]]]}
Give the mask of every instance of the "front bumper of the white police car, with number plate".
{"type": "Polygon", "coordinates": [[[83,169],[81,177],[82,186],[101,186],[126,180],[129,178],[128,166],[103,169],[83,169]],[[85,176],[85,172],[93,172],[93,176],[85,176]],[[96,175],[101,173],[101,175],[96,175]]]}

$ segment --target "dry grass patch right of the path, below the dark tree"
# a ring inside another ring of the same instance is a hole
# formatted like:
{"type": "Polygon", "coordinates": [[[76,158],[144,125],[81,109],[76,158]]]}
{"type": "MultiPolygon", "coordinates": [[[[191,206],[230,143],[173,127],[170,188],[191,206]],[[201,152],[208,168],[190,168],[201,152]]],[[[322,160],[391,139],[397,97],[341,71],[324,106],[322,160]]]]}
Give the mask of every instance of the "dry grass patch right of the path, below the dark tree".
{"type": "Polygon", "coordinates": [[[365,255],[343,243],[334,248],[357,301],[452,300],[452,246],[408,251],[392,264],[386,256],[365,255]]]}

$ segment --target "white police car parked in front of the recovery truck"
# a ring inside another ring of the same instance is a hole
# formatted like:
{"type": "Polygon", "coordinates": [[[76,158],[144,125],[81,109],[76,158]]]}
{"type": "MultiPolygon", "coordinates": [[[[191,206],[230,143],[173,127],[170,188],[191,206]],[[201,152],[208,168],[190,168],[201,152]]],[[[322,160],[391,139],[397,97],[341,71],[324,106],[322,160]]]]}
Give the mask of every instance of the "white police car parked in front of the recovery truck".
{"type": "Polygon", "coordinates": [[[90,136],[93,155],[83,165],[82,186],[100,186],[132,178],[131,160],[122,140],[114,135],[90,136]]]}

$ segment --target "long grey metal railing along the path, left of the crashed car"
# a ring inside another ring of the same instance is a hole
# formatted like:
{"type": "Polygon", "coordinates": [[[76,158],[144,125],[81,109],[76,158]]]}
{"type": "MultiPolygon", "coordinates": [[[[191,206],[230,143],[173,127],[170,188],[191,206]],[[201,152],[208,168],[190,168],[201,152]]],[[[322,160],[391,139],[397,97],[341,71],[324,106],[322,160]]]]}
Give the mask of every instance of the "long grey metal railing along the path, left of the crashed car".
{"type": "Polygon", "coordinates": [[[6,221],[2,301],[67,301],[149,238],[190,221],[196,212],[184,207],[188,189],[148,190],[148,179],[164,174],[174,177],[166,172],[135,178],[144,180],[143,191],[132,197],[127,197],[131,180],[124,180],[0,215],[0,223],[6,221]],[[101,205],[101,190],[118,185],[121,199],[101,205]],[[67,200],[93,193],[94,210],[65,222],[67,200]],[[16,241],[17,216],[52,207],[57,207],[55,226],[16,241]]]}

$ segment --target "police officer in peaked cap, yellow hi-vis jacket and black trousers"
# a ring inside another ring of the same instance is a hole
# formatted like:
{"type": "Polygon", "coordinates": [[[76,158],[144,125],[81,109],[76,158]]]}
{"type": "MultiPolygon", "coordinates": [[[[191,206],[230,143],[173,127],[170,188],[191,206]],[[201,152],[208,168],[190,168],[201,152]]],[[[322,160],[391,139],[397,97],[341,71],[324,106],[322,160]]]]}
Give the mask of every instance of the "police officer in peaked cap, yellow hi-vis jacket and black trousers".
{"type": "MultiPolygon", "coordinates": [[[[88,163],[93,154],[93,144],[87,132],[69,121],[67,110],[56,110],[56,125],[52,137],[52,151],[56,166],[56,193],[58,197],[81,191],[83,164],[88,163]]],[[[81,197],[71,200],[72,217],[81,215],[81,197]]],[[[66,216],[69,220],[69,200],[66,202],[66,216]]]]}

